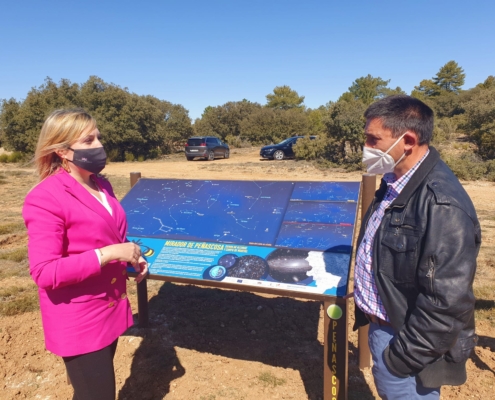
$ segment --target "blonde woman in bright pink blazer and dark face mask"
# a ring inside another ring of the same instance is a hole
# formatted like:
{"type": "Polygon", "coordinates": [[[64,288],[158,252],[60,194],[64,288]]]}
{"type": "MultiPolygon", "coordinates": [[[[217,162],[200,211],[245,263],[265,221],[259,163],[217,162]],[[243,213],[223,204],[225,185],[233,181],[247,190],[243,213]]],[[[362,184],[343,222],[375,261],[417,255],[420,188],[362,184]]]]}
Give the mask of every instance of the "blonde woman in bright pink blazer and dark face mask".
{"type": "Polygon", "coordinates": [[[82,109],[54,111],[35,153],[40,183],[22,211],[46,348],[63,357],[78,400],[115,399],[113,356],[132,325],[127,263],[137,282],[148,272],[110,183],[97,176],[105,162],[96,121],[82,109]]]}

